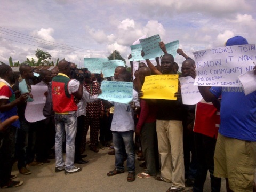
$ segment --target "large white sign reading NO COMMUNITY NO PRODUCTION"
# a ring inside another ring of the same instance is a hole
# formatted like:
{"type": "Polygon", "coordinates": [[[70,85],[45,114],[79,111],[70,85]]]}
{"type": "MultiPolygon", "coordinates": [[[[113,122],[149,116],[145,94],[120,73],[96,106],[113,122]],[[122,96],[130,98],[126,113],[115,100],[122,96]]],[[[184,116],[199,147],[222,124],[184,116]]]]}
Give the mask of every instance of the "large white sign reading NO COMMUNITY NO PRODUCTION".
{"type": "Polygon", "coordinates": [[[196,62],[195,85],[242,86],[238,76],[253,69],[255,45],[235,45],[193,53],[196,62]]]}

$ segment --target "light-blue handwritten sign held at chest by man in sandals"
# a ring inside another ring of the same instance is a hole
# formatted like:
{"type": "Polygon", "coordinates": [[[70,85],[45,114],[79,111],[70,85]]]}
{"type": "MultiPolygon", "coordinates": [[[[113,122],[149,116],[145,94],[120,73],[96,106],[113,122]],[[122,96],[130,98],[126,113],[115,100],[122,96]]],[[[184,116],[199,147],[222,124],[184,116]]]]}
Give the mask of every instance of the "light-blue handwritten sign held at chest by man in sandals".
{"type": "Polygon", "coordinates": [[[132,88],[132,82],[102,81],[98,98],[128,104],[132,101],[132,88]]]}

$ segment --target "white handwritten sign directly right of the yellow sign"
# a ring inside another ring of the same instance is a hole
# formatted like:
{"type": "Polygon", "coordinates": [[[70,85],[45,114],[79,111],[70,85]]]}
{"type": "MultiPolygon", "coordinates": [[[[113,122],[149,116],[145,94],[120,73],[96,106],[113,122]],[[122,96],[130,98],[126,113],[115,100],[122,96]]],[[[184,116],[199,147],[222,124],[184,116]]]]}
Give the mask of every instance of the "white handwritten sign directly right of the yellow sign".
{"type": "Polygon", "coordinates": [[[195,79],[192,77],[180,77],[182,103],[186,105],[195,105],[202,100],[202,95],[198,86],[194,85],[195,79]]]}

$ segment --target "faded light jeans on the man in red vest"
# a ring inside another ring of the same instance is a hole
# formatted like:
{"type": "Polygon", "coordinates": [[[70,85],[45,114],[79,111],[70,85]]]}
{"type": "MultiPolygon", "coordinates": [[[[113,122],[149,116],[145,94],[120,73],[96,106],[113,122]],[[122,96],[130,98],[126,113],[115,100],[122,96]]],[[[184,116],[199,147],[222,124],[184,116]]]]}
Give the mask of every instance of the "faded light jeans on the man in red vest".
{"type": "Polygon", "coordinates": [[[74,168],[75,138],[77,130],[76,113],[69,115],[55,114],[55,159],[56,167],[66,170],[74,168]],[[62,142],[66,132],[66,161],[62,156],[62,142]]]}

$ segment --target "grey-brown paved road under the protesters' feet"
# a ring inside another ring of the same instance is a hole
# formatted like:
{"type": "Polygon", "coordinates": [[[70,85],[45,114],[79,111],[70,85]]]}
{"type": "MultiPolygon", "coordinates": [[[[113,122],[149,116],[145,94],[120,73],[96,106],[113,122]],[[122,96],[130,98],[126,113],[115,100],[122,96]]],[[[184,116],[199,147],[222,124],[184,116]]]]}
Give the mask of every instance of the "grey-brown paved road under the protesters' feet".
{"type": "MultiPolygon", "coordinates": [[[[136,178],[134,182],[127,182],[127,170],[125,173],[108,177],[107,173],[114,169],[115,156],[108,155],[108,149],[100,149],[94,153],[86,149],[88,164],[82,164],[82,171],[75,174],[65,175],[64,172],[55,173],[55,160],[41,166],[29,167],[32,174],[21,175],[17,170],[17,164],[13,166],[13,173],[18,175],[15,180],[22,180],[20,187],[1,189],[1,191],[43,191],[43,192],[77,192],[77,191],[166,191],[171,183],[156,181],[154,178],[136,178]]],[[[136,173],[143,171],[139,167],[141,162],[136,162],[136,173]]],[[[210,192],[209,175],[205,183],[206,192],[210,192]]],[[[221,191],[225,190],[225,181],[222,180],[221,191]]]]}

